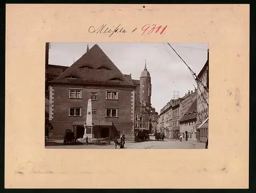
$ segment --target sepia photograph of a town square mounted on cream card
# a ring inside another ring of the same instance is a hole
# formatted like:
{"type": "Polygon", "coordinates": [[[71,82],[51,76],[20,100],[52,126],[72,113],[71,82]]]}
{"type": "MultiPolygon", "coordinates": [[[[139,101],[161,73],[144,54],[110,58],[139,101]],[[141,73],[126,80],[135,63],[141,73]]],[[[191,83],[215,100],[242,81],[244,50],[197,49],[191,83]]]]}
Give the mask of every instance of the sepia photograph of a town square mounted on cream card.
{"type": "Polygon", "coordinates": [[[45,61],[46,148],[208,148],[208,44],[47,42],[45,61]]]}

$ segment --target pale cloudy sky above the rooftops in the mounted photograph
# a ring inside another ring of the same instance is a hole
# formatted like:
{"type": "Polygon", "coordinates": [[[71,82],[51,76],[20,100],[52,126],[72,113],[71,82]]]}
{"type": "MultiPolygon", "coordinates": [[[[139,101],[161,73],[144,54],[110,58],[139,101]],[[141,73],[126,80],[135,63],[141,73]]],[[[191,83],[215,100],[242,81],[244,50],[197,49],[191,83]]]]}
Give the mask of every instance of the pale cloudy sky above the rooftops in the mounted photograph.
{"type": "MultiPolygon", "coordinates": [[[[121,42],[54,42],[49,50],[49,64],[71,66],[86,53],[87,45],[95,44],[105,52],[123,74],[140,78],[145,61],[151,75],[151,103],[158,113],[179,91],[179,97],[195,90],[196,81],[185,63],[165,42],[121,43],[121,42]],[[194,85],[193,85],[194,84],[194,85]]],[[[186,64],[198,74],[207,60],[208,44],[169,43],[186,64]]]]}

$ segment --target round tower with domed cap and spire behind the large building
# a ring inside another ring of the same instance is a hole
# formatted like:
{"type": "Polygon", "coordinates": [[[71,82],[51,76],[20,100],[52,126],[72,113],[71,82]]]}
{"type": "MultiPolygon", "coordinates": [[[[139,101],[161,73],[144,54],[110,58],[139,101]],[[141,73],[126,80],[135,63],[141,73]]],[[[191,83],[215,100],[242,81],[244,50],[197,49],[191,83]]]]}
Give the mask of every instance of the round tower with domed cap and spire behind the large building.
{"type": "Polygon", "coordinates": [[[142,106],[150,106],[151,104],[151,77],[150,72],[145,68],[140,75],[140,103],[142,106]]]}

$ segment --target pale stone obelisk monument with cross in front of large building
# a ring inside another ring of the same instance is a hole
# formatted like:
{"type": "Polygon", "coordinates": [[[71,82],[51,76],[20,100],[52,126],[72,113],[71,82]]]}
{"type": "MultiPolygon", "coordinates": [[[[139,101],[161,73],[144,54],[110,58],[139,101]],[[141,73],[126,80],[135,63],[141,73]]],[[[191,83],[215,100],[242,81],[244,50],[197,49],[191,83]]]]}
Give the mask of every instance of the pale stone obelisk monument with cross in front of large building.
{"type": "Polygon", "coordinates": [[[93,117],[92,117],[92,100],[88,100],[86,122],[84,123],[83,138],[94,138],[93,135],[93,117]]]}

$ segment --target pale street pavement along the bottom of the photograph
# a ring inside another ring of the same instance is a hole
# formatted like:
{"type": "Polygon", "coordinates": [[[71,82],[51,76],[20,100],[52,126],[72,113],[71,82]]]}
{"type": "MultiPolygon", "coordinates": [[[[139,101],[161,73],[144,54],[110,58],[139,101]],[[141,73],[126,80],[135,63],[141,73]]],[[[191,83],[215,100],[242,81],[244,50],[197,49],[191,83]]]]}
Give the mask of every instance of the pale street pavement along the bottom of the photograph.
{"type": "MultiPolygon", "coordinates": [[[[114,143],[111,145],[63,145],[63,142],[48,142],[49,146],[46,148],[60,148],[60,149],[114,149],[114,143]]],[[[164,139],[164,141],[155,141],[155,137],[151,136],[150,141],[144,142],[128,142],[125,141],[125,149],[195,149],[205,148],[205,143],[198,143],[196,141],[179,141],[164,139]]]]}

